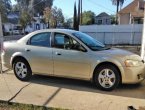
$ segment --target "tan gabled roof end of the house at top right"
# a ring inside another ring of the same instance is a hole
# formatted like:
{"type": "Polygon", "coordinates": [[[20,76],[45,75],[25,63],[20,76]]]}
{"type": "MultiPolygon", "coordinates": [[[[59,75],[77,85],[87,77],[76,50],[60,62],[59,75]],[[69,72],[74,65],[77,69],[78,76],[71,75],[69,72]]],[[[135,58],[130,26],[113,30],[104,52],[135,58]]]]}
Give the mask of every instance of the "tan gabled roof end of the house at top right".
{"type": "MultiPolygon", "coordinates": [[[[127,5],[125,8],[121,9],[118,14],[125,14],[125,13],[134,13],[134,12],[140,12],[139,10],[139,5],[141,6],[144,6],[145,4],[145,1],[143,0],[134,0],[133,2],[131,2],[129,5],[127,5]],[[140,2],[140,4],[139,4],[140,2]]],[[[143,12],[143,11],[141,11],[143,12]]]]}

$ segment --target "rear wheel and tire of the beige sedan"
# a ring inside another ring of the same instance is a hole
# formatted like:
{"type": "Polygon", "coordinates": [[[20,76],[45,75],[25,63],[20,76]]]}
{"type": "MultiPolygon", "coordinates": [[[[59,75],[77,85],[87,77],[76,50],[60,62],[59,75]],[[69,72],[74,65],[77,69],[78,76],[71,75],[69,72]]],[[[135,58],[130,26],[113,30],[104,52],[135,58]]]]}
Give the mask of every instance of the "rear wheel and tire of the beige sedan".
{"type": "Polygon", "coordinates": [[[16,59],[13,63],[13,70],[15,76],[21,81],[29,81],[32,77],[31,68],[28,62],[24,59],[16,59]]]}

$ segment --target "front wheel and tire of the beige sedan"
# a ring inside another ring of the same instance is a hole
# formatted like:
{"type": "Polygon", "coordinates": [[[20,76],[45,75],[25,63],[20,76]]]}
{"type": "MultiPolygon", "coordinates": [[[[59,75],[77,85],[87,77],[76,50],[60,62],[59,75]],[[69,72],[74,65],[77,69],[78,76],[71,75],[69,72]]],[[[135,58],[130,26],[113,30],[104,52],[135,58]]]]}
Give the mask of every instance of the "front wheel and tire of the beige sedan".
{"type": "Polygon", "coordinates": [[[104,91],[115,89],[119,85],[120,79],[119,71],[113,65],[102,65],[94,73],[95,85],[104,91]]]}

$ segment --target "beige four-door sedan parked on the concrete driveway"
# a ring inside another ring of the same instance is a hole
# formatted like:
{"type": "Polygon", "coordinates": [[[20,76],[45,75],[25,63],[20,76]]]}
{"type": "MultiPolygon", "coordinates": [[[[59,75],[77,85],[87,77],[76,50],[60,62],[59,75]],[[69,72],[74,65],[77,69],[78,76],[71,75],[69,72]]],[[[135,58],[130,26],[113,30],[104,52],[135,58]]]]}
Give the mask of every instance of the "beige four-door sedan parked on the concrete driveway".
{"type": "Polygon", "coordinates": [[[21,81],[33,74],[88,80],[102,90],[144,79],[145,65],[129,51],[107,48],[79,31],[39,30],[18,41],[4,42],[3,64],[21,81]]]}

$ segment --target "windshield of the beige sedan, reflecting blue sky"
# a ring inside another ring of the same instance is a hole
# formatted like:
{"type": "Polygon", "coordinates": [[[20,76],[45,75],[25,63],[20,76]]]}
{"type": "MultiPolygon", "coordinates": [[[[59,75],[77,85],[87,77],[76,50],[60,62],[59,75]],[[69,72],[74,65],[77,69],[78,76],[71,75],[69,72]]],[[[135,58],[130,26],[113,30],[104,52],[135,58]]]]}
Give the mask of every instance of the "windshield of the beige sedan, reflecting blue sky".
{"type": "Polygon", "coordinates": [[[105,45],[103,45],[101,42],[97,41],[96,39],[92,38],[91,36],[85,33],[75,32],[73,33],[73,35],[77,37],[79,40],[81,40],[85,45],[87,45],[93,51],[106,49],[105,45]]]}

